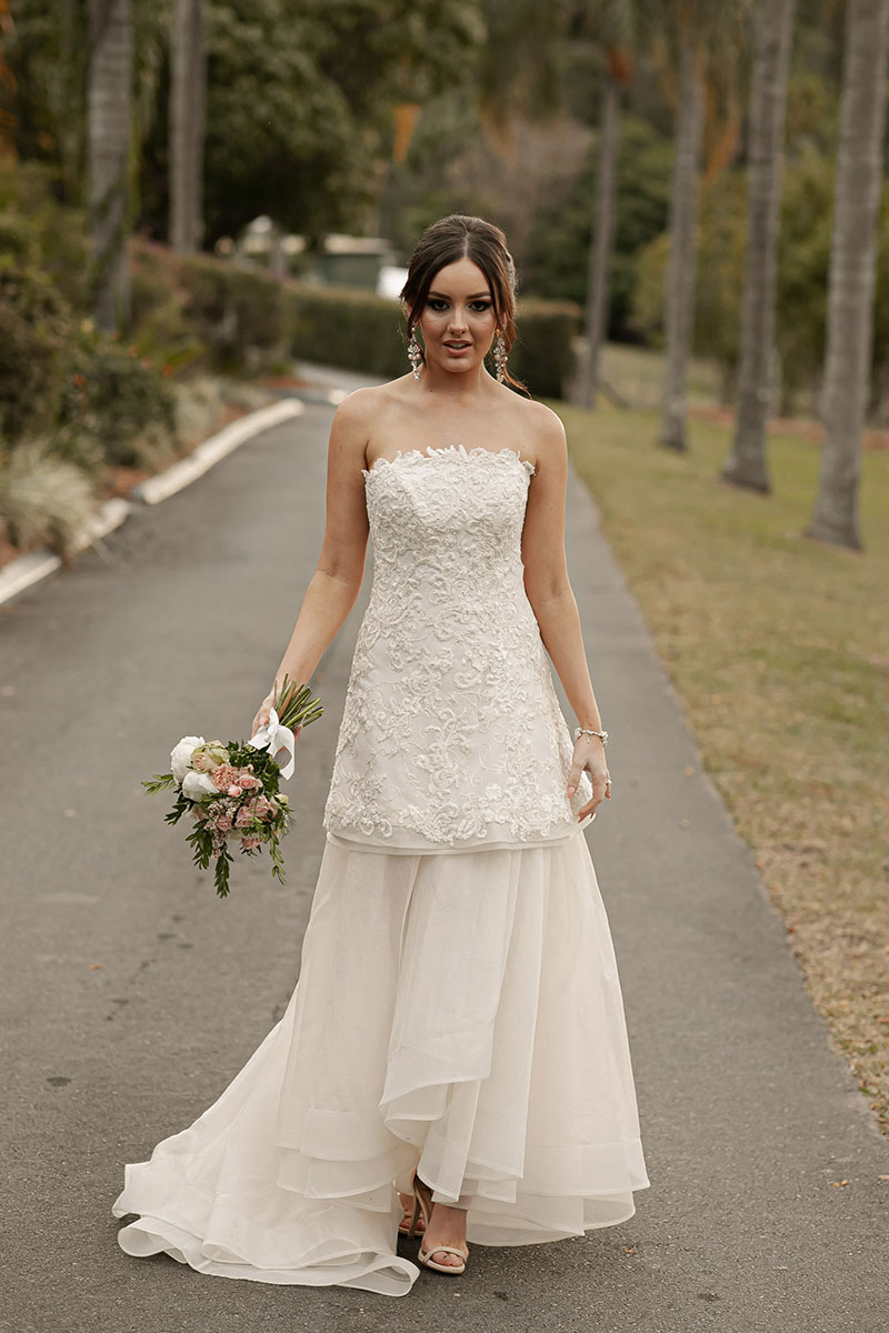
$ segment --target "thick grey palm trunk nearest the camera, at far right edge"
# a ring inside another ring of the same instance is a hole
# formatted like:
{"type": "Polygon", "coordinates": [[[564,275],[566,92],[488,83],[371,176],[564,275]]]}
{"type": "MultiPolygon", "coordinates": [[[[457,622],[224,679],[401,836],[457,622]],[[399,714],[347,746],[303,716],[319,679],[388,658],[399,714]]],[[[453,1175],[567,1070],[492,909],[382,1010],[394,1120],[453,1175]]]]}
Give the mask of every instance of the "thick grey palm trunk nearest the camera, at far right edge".
{"type": "Polygon", "coordinates": [[[889,0],[849,0],[821,395],[821,477],[806,536],[861,549],[858,477],[873,343],[889,0]]]}

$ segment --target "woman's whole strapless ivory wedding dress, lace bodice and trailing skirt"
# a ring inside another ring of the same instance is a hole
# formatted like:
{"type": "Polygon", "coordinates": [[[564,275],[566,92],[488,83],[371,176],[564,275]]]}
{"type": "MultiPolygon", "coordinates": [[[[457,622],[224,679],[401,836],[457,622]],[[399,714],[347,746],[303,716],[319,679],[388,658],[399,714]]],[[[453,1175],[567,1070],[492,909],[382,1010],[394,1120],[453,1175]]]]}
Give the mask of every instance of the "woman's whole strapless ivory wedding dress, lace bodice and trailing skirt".
{"type": "Polygon", "coordinates": [[[403,1296],[420,1176],[466,1238],[633,1214],[648,1185],[572,742],[526,599],[533,467],[413,449],[365,472],[375,575],[300,980],[219,1101],[113,1205],[129,1254],[403,1296]]]}

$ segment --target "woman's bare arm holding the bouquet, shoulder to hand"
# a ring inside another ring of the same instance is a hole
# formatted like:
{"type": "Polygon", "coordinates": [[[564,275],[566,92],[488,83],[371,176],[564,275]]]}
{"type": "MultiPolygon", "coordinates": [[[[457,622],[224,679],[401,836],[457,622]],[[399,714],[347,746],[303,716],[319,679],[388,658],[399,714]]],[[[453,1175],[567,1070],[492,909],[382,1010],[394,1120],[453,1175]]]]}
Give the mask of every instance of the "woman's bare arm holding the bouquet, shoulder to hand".
{"type": "MultiPolygon", "coordinates": [[[[333,641],[356,603],[364,577],[368,548],[368,511],[364,499],[365,444],[369,391],[359,389],[337,408],[331,425],[327,472],[327,519],[319,564],[309,580],[303,605],[275,681],[289,676],[304,684],[333,641]]],[[[371,391],[372,392],[372,391],[371,391]]],[[[253,730],[268,722],[273,692],[267,694],[253,718],[253,730]]]]}

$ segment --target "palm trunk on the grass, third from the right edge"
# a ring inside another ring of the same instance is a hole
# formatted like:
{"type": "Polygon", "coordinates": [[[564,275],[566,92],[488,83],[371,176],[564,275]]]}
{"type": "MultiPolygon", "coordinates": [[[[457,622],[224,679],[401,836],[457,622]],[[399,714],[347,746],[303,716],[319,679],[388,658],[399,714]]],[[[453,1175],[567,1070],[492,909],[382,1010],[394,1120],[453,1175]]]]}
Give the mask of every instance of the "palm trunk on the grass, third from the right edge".
{"type": "Polygon", "coordinates": [[[666,272],[666,376],[658,444],[684,452],[685,380],[694,316],[694,231],[697,176],[704,128],[704,100],[694,67],[694,37],[680,36],[680,104],[676,123],[676,161],[670,197],[670,261],[666,272]]]}

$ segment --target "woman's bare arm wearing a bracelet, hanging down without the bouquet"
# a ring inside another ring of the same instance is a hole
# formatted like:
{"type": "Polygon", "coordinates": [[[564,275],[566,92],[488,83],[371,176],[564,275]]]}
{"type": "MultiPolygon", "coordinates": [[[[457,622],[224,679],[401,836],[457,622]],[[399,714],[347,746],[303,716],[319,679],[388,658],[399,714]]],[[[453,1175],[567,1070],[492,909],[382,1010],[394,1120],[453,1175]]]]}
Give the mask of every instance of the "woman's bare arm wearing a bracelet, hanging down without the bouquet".
{"type": "MultiPolygon", "coordinates": [[[[589,678],[580,615],[565,560],[565,431],[554,412],[542,404],[534,407],[540,411],[537,463],[528,491],[521,537],[525,592],[578,726],[601,732],[602,722],[589,678]]],[[[578,818],[585,818],[602,800],[610,797],[605,746],[596,736],[581,736],[574,744],[568,780],[569,796],[574,794],[584,769],[593,780],[593,800],[582,808],[578,818]]]]}

